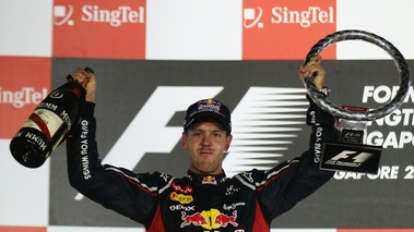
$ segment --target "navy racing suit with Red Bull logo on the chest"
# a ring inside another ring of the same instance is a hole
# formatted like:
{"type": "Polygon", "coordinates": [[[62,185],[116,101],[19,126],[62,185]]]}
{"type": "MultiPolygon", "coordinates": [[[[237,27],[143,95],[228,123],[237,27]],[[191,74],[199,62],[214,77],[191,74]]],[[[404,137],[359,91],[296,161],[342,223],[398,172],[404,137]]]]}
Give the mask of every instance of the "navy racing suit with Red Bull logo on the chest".
{"type": "Polygon", "coordinates": [[[142,223],[149,232],[270,231],[274,218],[333,175],[318,167],[321,143],[338,138],[334,119],[309,102],[307,124],[312,132],[308,150],[270,170],[253,169],[233,178],[224,171],[218,175],[188,171],[175,178],[102,164],[95,105],[86,102],[80,124],[67,139],[69,180],[84,196],[142,223]]]}

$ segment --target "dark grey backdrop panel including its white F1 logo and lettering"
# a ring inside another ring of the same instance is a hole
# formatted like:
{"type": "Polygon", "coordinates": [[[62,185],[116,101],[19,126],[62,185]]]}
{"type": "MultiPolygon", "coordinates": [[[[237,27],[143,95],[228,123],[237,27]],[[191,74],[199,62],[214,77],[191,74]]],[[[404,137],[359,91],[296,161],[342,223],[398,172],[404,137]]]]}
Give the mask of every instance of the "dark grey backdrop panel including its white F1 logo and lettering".
{"type": "MultiPolygon", "coordinates": [[[[412,61],[409,62],[410,65],[413,64],[412,61]]],[[[275,99],[274,96],[277,96],[282,89],[291,89],[289,94],[284,94],[291,99],[287,97],[284,101],[287,102],[287,108],[292,109],[292,114],[297,118],[280,120],[279,125],[271,125],[270,122],[262,127],[297,129],[292,133],[295,137],[288,138],[286,144],[277,145],[285,149],[277,151],[281,154],[280,157],[269,158],[265,160],[268,162],[262,162],[268,164],[259,163],[251,168],[271,167],[300,155],[307,147],[310,131],[304,124],[307,102],[304,98],[304,87],[296,76],[299,64],[300,61],[54,59],[52,83],[54,86],[58,86],[64,81],[63,77],[68,72],[79,66],[93,66],[98,78],[95,114],[100,157],[113,156],[110,160],[119,162],[120,166],[127,164],[135,172],[158,170],[181,176],[188,168],[187,154],[179,143],[187,105],[176,99],[181,99],[180,95],[186,95],[184,98],[187,98],[189,102],[197,101],[200,97],[194,97],[197,95],[194,93],[205,87],[210,90],[204,93],[210,93],[210,95],[204,97],[222,99],[233,110],[233,117],[236,120],[234,121],[236,150],[240,146],[238,143],[240,139],[237,141],[240,134],[238,126],[243,126],[241,121],[240,125],[237,124],[237,113],[240,112],[238,109],[247,102],[255,102],[247,99],[253,99],[258,95],[268,95],[269,99],[264,98],[264,100],[270,101],[270,99],[275,99]],[[295,99],[296,96],[300,96],[299,99],[295,99]],[[149,105],[153,103],[151,98],[154,97],[162,100],[152,106],[154,108],[152,118],[144,122],[151,125],[150,130],[140,131],[140,125],[133,121],[144,119],[140,114],[143,106],[151,107],[149,105]],[[169,106],[173,106],[175,110],[171,111],[169,106]],[[170,118],[166,124],[159,124],[165,114],[170,118]],[[132,133],[127,133],[127,127],[132,130],[132,133]],[[171,143],[159,139],[158,136],[159,132],[167,129],[176,130],[176,134],[168,137],[171,143]],[[126,138],[126,136],[131,137],[126,138]],[[126,144],[122,141],[129,142],[126,144]],[[123,143],[125,148],[115,146],[117,143],[123,143]],[[140,146],[147,150],[143,152],[140,146]],[[170,151],[154,151],[155,149],[170,151]],[[143,155],[140,160],[137,160],[140,152],[143,155]]],[[[379,88],[378,86],[386,85],[391,88],[399,82],[392,61],[344,60],[324,61],[323,64],[328,71],[327,84],[332,89],[330,99],[338,103],[379,107],[388,90],[387,87],[379,88]],[[372,90],[370,86],[379,90],[372,90]]],[[[409,97],[412,99],[412,93],[409,97]]],[[[251,111],[255,111],[253,106],[250,107],[251,111]]],[[[380,138],[385,141],[386,147],[382,151],[381,170],[378,175],[338,173],[334,180],[298,204],[293,210],[274,220],[272,225],[275,228],[413,227],[413,218],[410,216],[412,208],[410,193],[413,191],[411,185],[413,145],[406,139],[413,121],[412,113],[409,113],[412,112],[412,100],[404,103],[400,110],[405,113],[395,112],[368,126],[368,143],[379,143],[380,138]],[[309,215],[312,217],[308,217],[309,215]],[[300,220],[297,221],[297,218],[300,220]],[[379,218],[381,220],[378,220],[379,218]]],[[[51,224],[137,227],[135,222],[106,210],[88,199],[80,199],[78,193],[68,184],[64,156],[64,149],[60,147],[51,158],[50,211],[54,212],[54,217],[50,218],[51,224]]],[[[237,170],[237,164],[233,163],[244,158],[246,157],[243,152],[232,151],[230,148],[225,163],[229,170],[237,170]]],[[[253,160],[253,158],[250,159],[253,160]]],[[[243,168],[239,170],[244,170],[243,168]]]]}

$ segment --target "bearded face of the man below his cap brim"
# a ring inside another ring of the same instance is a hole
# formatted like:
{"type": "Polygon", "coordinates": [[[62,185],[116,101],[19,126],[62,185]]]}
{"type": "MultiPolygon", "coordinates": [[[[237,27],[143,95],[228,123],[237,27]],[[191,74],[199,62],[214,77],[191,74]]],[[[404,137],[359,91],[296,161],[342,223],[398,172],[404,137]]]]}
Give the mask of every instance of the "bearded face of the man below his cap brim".
{"type": "Polygon", "coordinates": [[[200,122],[182,133],[181,144],[190,154],[190,170],[199,174],[222,173],[223,154],[232,135],[217,122],[200,122]]]}

